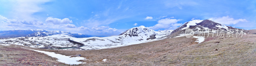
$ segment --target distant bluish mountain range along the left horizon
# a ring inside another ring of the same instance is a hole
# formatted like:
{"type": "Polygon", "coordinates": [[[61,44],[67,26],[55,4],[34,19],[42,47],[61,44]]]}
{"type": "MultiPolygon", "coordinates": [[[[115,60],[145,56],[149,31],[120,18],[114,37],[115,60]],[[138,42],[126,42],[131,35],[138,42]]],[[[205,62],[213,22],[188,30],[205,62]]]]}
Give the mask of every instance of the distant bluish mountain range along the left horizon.
{"type": "Polygon", "coordinates": [[[50,30],[10,30],[0,31],[0,38],[12,38],[12,37],[44,37],[56,34],[66,34],[76,38],[92,37],[91,35],[70,33],[67,31],[50,31],[50,30]]]}

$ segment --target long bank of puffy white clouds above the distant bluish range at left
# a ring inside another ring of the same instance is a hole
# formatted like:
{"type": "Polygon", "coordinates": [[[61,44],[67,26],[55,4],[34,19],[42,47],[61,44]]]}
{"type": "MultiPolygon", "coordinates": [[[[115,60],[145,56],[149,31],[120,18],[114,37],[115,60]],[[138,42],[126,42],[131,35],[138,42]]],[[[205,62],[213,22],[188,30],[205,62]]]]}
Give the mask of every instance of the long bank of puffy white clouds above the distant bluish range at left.
{"type": "Polygon", "coordinates": [[[0,15],[0,30],[6,29],[50,29],[50,30],[62,30],[71,32],[92,32],[92,33],[119,33],[116,28],[111,28],[108,26],[94,26],[92,28],[88,27],[76,27],[76,25],[71,24],[72,21],[68,18],[58,19],[48,17],[45,22],[36,20],[18,20],[18,19],[7,19],[6,17],[0,15]]]}

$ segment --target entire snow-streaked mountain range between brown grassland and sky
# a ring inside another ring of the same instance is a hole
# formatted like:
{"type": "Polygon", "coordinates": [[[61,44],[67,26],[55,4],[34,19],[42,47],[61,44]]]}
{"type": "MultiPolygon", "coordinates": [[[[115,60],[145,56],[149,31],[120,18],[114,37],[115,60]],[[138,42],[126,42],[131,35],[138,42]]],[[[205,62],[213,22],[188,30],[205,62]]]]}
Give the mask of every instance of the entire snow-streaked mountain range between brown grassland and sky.
{"type": "MultiPolygon", "coordinates": [[[[79,34],[79,33],[70,33],[66,31],[49,31],[49,30],[12,30],[12,31],[2,31],[0,32],[0,37],[20,37],[13,39],[0,39],[1,42],[8,42],[11,44],[21,44],[29,45],[30,47],[36,44],[40,44],[40,46],[36,47],[44,47],[47,46],[47,43],[42,43],[45,41],[52,40],[52,43],[55,44],[54,40],[59,40],[60,43],[65,44],[65,40],[70,38],[76,42],[83,43],[85,46],[80,47],[81,49],[92,50],[92,49],[105,49],[105,48],[113,48],[120,47],[126,45],[140,44],[145,42],[151,42],[156,40],[161,40],[165,38],[174,38],[185,36],[185,30],[187,28],[192,29],[193,31],[198,31],[201,29],[223,29],[234,30],[238,28],[234,28],[231,26],[226,26],[219,24],[210,20],[193,20],[184,23],[182,26],[178,27],[175,30],[166,30],[166,31],[154,31],[144,26],[133,27],[131,29],[126,30],[125,32],[119,34],[118,36],[109,36],[109,37],[93,37],[92,35],[79,34]],[[46,37],[45,37],[46,36],[46,37]],[[37,37],[39,39],[33,39],[33,37],[37,37]],[[25,38],[25,39],[24,39],[25,38]],[[22,40],[21,40],[22,39],[22,40]],[[29,39],[30,43],[27,43],[29,39]],[[41,42],[41,43],[40,43],[41,42]]],[[[242,30],[242,29],[239,29],[242,30]]],[[[249,33],[247,30],[244,30],[244,33],[249,33]]],[[[72,45],[72,44],[71,44],[72,45]]],[[[48,45],[49,46],[49,45],[48,45]]]]}

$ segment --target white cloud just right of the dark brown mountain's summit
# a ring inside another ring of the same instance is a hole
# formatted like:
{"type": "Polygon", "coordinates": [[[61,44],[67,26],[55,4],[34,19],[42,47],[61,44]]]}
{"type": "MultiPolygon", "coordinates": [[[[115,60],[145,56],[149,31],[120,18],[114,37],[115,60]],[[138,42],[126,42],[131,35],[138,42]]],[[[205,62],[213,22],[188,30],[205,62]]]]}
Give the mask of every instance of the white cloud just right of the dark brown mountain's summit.
{"type": "Polygon", "coordinates": [[[238,22],[247,22],[246,19],[234,19],[229,16],[215,17],[215,18],[210,18],[209,20],[212,20],[224,25],[234,25],[238,22]]]}

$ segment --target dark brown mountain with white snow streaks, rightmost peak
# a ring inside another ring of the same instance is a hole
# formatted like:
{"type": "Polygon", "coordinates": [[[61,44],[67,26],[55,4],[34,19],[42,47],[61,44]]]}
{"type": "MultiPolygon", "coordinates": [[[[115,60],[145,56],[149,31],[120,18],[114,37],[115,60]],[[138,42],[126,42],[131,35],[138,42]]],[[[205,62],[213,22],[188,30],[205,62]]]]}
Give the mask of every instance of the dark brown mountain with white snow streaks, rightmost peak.
{"type": "MultiPolygon", "coordinates": [[[[211,20],[193,20],[193,21],[188,21],[188,22],[184,23],[182,26],[173,30],[170,37],[172,38],[172,37],[184,35],[185,29],[187,29],[187,28],[190,28],[194,31],[201,30],[201,29],[205,29],[205,30],[223,29],[224,31],[238,29],[238,28],[234,28],[231,26],[222,25],[220,23],[217,23],[217,22],[214,22],[211,20]]],[[[242,30],[242,29],[239,29],[239,30],[242,30]]],[[[247,33],[247,32],[248,31],[244,31],[244,33],[247,33]]]]}

